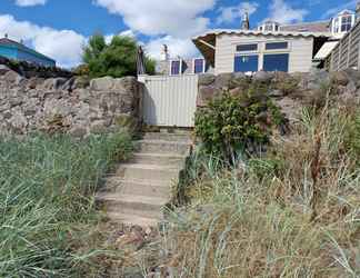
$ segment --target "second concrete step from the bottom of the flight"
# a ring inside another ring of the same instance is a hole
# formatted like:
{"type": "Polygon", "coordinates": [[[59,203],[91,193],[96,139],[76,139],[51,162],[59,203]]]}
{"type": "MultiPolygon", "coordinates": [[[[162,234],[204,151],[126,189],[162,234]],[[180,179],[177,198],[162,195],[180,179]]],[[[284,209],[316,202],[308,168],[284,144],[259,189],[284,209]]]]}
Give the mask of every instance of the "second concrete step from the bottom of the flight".
{"type": "Polygon", "coordinates": [[[168,202],[168,199],[104,192],[97,195],[97,202],[103,206],[107,211],[161,219],[162,207],[168,202]]]}

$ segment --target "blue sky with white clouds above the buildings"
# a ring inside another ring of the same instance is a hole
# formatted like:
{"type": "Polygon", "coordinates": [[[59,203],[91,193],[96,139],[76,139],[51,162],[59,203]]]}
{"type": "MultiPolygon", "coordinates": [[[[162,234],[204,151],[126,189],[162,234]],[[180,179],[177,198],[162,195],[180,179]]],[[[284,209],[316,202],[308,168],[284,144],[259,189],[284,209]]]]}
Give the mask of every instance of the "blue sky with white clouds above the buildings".
{"type": "Polygon", "coordinates": [[[153,58],[168,44],[173,57],[199,56],[191,37],[209,29],[240,27],[250,14],[281,23],[326,20],[357,0],[0,0],[0,38],[23,40],[64,68],[81,63],[89,37],[103,33],[136,38],[153,58]]]}

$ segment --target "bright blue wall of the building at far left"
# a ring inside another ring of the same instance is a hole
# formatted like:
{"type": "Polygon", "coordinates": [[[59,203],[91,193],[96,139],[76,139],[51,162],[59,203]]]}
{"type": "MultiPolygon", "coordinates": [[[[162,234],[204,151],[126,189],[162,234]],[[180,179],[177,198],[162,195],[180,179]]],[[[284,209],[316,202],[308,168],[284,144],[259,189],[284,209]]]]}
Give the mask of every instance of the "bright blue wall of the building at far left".
{"type": "Polygon", "coordinates": [[[37,52],[26,51],[14,47],[0,46],[0,56],[3,56],[8,59],[14,59],[19,61],[28,61],[38,63],[46,67],[54,67],[56,61],[48,59],[37,52]]]}

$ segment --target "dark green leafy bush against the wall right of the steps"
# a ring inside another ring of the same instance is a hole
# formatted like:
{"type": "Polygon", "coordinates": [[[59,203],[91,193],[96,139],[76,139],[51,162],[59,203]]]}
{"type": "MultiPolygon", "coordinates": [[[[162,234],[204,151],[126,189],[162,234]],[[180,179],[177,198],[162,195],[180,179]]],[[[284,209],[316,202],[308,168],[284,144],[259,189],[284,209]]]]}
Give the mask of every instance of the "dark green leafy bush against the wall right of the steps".
{"type": "Polygon", "coordinates": [[[207,152],[233,161],[237,152],[268,143],[271,129],[283,121],[266,88],[253,85],[238,96],[224,92],[198,111],[196,135],[207,152]]]}

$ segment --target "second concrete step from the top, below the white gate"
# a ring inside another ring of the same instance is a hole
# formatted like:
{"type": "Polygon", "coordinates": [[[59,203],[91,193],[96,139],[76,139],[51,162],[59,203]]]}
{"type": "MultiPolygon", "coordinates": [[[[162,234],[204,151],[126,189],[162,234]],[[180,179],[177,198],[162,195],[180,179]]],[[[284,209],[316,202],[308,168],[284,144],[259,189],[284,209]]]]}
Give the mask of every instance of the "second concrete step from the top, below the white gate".
{"type": "Polygon", "coordinates": [[[187,156],[190,151],[188,142],[171,142],[168,140],[140,140],[136,142],[138,152],[143,153],[177,153],[187,156]]]}

